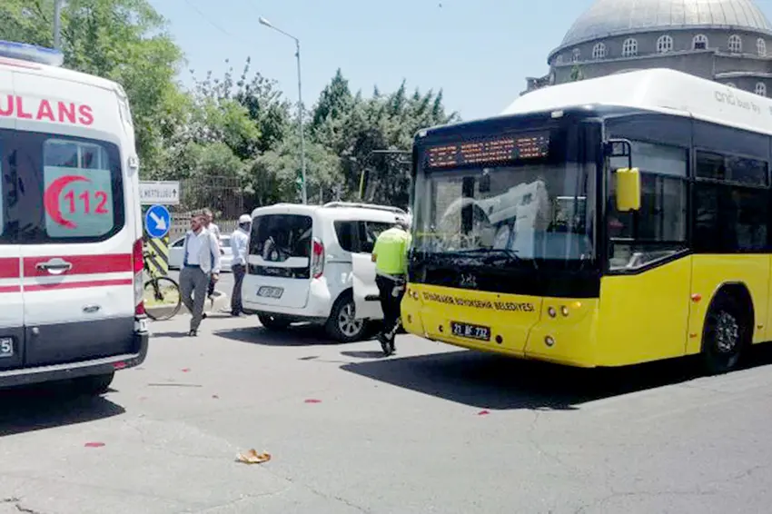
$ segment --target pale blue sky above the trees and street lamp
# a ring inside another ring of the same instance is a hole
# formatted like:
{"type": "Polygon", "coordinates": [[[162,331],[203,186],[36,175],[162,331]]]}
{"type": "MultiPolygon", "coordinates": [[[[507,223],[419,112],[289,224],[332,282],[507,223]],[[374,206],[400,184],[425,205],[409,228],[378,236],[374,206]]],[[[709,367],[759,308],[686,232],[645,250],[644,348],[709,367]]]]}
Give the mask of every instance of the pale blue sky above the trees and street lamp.
{"type": "MultiPolygon", "coordinates": [[[[252,70],[298,98],[292,39],[259,25],[258,17],[301,41],[302,99],[311,106],[338,68],[351,90],[442,90],[449,112],[464,119],[498,114],[547,74],[559,45],[592,0],[150,0],[169,22],[190,70],[252,70]]],[[[772,0],[757,0],[772,18],[772,0]]]]}

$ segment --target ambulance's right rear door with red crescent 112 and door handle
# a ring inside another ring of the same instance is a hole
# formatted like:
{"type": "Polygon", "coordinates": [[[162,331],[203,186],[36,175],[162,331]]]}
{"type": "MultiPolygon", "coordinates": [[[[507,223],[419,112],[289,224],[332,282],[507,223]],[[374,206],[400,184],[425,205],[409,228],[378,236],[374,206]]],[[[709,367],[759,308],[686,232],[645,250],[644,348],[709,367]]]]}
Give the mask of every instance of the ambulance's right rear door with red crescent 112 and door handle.
{"type": "Polygon", "coordinates": [[[25,365],[132,353],[134,210],[116,96],[25,74],[15,89],[29,112],[56,91],[88,103],[64,103],[75,105],[75,124],[16,124],[25,365]]]}

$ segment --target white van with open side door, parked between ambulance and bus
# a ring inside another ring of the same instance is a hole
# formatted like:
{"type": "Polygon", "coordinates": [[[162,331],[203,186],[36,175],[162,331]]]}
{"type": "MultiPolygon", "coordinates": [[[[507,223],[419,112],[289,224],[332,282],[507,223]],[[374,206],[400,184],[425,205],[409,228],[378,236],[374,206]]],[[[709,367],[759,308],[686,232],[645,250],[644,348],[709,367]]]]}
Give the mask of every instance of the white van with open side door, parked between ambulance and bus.
{"type": "Polygon", "coordinates": [[[244,311],[270,330],[324,323],[335,341],[358,341],[382,320],[371,252],[407,213],[362,203],[280,203],[252,212],[244,311]]]}

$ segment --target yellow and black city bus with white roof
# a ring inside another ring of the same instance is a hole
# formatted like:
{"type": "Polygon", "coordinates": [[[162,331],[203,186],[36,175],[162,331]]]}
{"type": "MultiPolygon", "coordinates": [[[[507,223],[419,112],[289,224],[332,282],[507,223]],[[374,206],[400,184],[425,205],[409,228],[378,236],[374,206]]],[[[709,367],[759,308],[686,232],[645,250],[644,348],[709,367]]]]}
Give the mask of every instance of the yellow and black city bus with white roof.
{"type": "Polygon", "coordinates": [[[594,368],[772,339],[772,101],[668,69],[546,87],[413,144],[406,331],[594,368]]]}

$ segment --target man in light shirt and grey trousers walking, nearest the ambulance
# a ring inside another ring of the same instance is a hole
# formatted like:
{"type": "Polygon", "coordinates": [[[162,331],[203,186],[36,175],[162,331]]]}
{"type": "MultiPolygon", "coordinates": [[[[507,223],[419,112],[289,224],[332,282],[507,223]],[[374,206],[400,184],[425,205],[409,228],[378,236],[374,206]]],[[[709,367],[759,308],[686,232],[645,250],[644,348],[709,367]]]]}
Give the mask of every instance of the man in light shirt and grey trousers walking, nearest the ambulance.
{"type": "Polygon", "coordinates": [[[191,230],[185,234],[183,244],[183,269],[180,272],[180,293],[183,303],[193,316],[188,335],[195,336],[203,320],[203,303],[211,281],[220,279],[220,243],[214,234],[204,227],[206,216],[195,213],[191,217],[191,230]]]}

